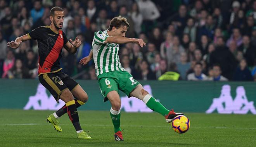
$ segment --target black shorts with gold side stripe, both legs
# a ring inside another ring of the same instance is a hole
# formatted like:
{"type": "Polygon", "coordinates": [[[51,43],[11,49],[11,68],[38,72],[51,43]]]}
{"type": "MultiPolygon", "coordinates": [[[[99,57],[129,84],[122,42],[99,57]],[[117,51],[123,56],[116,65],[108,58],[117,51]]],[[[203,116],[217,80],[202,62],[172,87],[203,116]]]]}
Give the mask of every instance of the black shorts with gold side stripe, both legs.
{"type": "Polygon", "coordinates": [[[38,78],[40,83],[54,96],[57,103],[59,103],[59,97],[64,90],[69,89],[69,91],[72,91],[78,86],[74,79],[62,71],[41,74],[38,78]]]}

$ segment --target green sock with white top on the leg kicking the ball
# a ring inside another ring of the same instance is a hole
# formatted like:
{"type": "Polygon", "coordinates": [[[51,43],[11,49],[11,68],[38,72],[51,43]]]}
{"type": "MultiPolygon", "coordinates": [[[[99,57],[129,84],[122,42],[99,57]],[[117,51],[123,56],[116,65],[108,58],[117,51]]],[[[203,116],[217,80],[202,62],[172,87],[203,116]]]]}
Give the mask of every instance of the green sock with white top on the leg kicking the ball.
{"type": "Polygon", "coordinates": [[[151,95],[146,95],[143,99],[144,103],[153,111],[165,116],[168,115],[170,110],[166,109],[159,101],[154,99],[151,95]]]}

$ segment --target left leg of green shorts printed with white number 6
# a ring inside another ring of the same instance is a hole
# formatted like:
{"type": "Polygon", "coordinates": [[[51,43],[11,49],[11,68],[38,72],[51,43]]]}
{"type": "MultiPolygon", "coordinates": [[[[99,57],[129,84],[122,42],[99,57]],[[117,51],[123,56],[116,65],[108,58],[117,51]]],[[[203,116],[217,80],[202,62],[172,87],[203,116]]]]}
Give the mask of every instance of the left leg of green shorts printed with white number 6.
{"type": "Polygon", "coordinates": [[[114,78],[100,78],[99,79],[100,91],[104,96],[104,101],[107,101],[107,94],[111,91],[116,91],[118,93],[118,83],[114,78]]]}

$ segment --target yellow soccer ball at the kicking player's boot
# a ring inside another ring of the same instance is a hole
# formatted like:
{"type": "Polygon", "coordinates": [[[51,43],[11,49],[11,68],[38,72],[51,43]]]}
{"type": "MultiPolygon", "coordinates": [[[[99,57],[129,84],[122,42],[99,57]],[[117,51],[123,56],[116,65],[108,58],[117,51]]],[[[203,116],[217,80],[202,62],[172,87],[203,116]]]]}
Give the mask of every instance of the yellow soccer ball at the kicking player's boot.
{"type": "Polygon", "coordinates": [[[189,118],[185,117],[185,115],[178,115],[175,118],[173,118],[171,127],[177,133],[185,133],[190,128],[189,118]]]}

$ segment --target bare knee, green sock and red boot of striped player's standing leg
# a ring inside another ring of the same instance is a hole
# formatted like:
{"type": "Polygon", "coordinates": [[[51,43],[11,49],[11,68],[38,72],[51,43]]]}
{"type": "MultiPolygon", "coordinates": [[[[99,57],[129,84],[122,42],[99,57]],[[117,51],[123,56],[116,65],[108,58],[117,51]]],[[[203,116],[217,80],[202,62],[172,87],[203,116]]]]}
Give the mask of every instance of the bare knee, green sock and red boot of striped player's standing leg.
{"type": "Polygon", "coordinates": [[[110,91],[107,94],[107,98],[111,103],[110,116],[114,125],[114,137],[116,141],[123,141],[123,135],[120,128],[120,117],[121,117],[121,100],[117,91],[110,91]]]}

